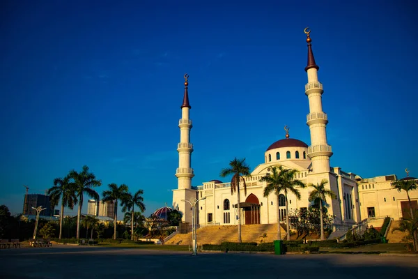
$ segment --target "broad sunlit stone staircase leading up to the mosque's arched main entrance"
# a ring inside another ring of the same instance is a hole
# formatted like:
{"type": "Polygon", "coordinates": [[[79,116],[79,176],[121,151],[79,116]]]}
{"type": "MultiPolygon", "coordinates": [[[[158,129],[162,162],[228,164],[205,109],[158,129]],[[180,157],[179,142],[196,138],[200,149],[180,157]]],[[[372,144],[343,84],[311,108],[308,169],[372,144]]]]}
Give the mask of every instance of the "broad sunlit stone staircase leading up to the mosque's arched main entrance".
{"type": "MultiPolygon", "coordinates": [[[[286,231],[281,227],[282,239],[285,236],[286,231]]],[[[277,239],[277,224],[242,225],[241,238],[242,242],[273,242],[275,239],[277,239]]],[[[220,244],[225,241],[238,241],[238,226],[213,225],[197,229],[197,243],[199,245],[220,244]]],[[[188,234],[176,234],[165,244],[192,245],[192,232],[189,232],[188,234]]]]}

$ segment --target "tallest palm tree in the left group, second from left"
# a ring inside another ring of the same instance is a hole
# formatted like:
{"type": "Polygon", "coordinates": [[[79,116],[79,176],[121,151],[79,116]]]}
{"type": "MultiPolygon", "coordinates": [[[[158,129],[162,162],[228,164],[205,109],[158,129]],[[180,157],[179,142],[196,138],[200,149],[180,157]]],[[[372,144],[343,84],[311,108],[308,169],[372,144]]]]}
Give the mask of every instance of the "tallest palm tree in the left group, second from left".
{"type": "Polygon", "coordinates": [[[82,172],[76,172],[74,169],[68,174],[72,180],[72,186],[75,187],[75,193],[78,195],[78,213],[77,213],[77,239],[80,238],[80,220],[82,218],[83,195],[87,194],[93,199],[99,199],[99,194],[93,190],[93,187],[101,186],[102,181],[97,180],[92,172],[88,172],[88,167],[83,166],[82,172]]]}

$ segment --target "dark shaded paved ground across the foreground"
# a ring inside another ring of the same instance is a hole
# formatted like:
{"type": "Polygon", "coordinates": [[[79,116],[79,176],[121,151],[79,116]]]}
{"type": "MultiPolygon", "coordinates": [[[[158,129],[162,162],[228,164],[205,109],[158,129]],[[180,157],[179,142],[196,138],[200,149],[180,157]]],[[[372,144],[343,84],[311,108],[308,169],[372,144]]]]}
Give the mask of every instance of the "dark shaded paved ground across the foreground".
{"type": "Polygon", "coordinates": [[[382,279],[417,278],[418,257],[238,253],[192,256],[177,251],[54,246],[2,249],[0,268],[0,278],[382,279]]]}

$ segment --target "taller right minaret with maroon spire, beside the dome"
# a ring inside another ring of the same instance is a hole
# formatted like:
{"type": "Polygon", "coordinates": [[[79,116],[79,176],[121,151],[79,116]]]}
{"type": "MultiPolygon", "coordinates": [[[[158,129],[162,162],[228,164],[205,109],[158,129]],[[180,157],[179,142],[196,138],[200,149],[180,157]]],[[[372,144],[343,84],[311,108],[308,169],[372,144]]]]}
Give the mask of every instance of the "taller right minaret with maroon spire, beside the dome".
{"type": "Polygon", "coordinates": [[[305,71],[308,74],[308,83],[305,85],[305,94],[309,100],[309,114],[307,115],[307,125],[311,131],[311,146],[308,148],[308,156],[312,160],[312,172],[330,172],[330,157],[332,156],[331,146],[327,144],[326,126],[328,117],[323,112],[322,94],[323,85],[318,82],[319,67],[315,63],[314,53],[312,52],[309,28],[304,29],[307,34],[308,43],[308,64],[305,71]]]}

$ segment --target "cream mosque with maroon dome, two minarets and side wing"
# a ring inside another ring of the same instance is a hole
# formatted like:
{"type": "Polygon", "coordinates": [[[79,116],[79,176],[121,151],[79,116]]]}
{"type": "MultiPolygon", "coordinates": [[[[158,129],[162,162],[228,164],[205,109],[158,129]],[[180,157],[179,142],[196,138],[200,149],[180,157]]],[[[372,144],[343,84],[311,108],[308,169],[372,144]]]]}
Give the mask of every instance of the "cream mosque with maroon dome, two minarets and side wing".
{"type": "MultiPolygon", "coordinates": [[[[196,223],[200,225],[238,225],[238,215],[242,224],[272,224],[277,220],[284,221],[286,216],[284,195],[277,197],[272,193],[263,196],[267,184],[260,182],[273,166],[297,169],[297,179],[305,184],[328,181],[326,187],[335,194],[336,199],[327,197],[328,213],[335,216],[335,225],[355,225],[365,218],[390,216],[398,220],[409,211],[408,197],[404,191],[399,193],[392,189],[397,180],[395,175],[377,176],[363,179],[352,172],[343,171],[340,167],[330,167],[332,147],[327,142],[327,114],[323,110],[323,84],[318,80],[319,66],[312,52],[309,29],[307,34],[308,59],[307,84],[305,94],[309,102],[307,125],[311,135],[311,145],[293,139],[285,126],[284,139],[273,142],[264,153],[264,162],[258,165],[251,176],[244,177],[247,184],[247,195],[240,190],[240,211],[237,212],[237,194],[231,195],[231,183],[219,180],[203,182],[203,185],[192,186],[194,169],[191,166],[193,145],[189,142],[192,120],[189,118],[188,75],[185,75],[185,92],[181,105],[182,117],[179,121],[180,143],[178,144],[179,165],[176,169],[178,188],[173,190],[173,204],[183,213],[183,222],[192,224],[192,209],[188,202],[202,199],[196,205],[196,223]],[[279,215],[279,216],[277,216],[279,215]]],[[[407,172],[408,174],[408,172],[407,172]]],[[[405,179],[415,179],[408,177],[405,179]]],[[[242,186],[242,183],[240,183],[242,186]]],[[[304,209],[309,206],[311,188],[300,188],[301,199],[292,193],[288,194],[288,210],[304,209]]],[[[410,192],[412,205],[418,209],[418,190],[410,192]]]]}

